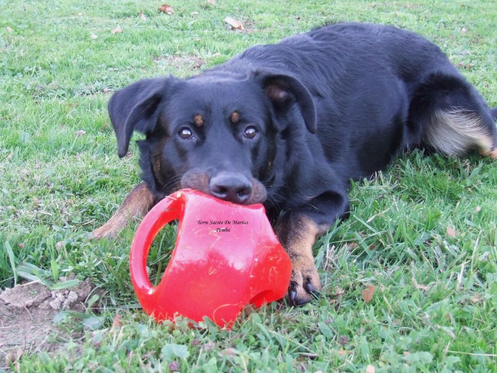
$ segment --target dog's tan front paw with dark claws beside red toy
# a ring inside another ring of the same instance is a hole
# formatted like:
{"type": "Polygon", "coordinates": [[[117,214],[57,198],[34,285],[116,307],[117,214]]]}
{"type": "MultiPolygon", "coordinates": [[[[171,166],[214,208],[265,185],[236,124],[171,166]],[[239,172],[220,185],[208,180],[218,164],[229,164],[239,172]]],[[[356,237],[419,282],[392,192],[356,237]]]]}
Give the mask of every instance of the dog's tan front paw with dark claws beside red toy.
{"type": "Polygon", "coordinates": [[[286,300],[291,305],[300,306],[316,298],[321,291],[321,283],[314,261],[292,263],[292,267],[286,300]]]}

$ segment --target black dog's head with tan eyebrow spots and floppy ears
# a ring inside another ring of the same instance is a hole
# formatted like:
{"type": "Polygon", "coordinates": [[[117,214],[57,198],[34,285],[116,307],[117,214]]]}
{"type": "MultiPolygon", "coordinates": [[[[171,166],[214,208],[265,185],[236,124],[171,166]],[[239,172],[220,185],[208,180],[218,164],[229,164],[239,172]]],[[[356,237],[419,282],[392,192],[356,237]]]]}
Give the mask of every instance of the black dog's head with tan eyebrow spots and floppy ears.
{"type": "Polygon", "coordinates": [[[278,141],[316,131],[307,89],[267,71],[142,80],[114,93],[108,109],[119,157],[133,131],[146,135],[138,141],[142,178],[159,196],[190,187],[235,203],[263,202],[275,162],[285,158],[277,157],[278,141]]]}

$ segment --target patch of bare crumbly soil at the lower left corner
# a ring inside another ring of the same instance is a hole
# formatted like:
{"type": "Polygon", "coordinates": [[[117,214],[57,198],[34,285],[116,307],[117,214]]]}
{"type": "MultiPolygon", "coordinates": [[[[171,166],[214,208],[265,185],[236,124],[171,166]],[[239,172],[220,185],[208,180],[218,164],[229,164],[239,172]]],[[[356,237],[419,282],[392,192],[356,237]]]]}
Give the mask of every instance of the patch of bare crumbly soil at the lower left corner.
{"type": "Polygon", "coordinates": [[[27,282],[0,293],[0,362],[18,360],[24,353],[56,351],[75,335],[61,331],[54,316],[65,309],[84,311],[91,292],[88,281],[77,286],[50,291],[39,282],[27,282]]]}

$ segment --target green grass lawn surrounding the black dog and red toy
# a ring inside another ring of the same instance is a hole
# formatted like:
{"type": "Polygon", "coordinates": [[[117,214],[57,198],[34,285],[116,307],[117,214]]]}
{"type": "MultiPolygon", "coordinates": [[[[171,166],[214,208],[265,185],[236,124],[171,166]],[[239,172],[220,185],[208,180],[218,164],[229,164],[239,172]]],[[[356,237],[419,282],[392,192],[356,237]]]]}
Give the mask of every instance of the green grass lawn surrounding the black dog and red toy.
{"type": "MultiPolygon", "coordinates": [[[[497,166],[488,159],[415,151],[352,185],[350,218],[315,246],[324,295],[300,308],[265,306],[232,331],[156,325],[136,309],[127,257],[136,225],[88,240],[139,181],[136,146],[129,158],[116,154],[112,91],[356,20],[434,41],[496,106],[495,1],[170,2],[174,14],[159,13],[160,1],[0,0],[0,285],[73,274],[100,294],[84,316],[96,324],[69,315],[58,326],[74,338],[58,353],[25,354],[4,369],[497,372],[497,166]],[[250,32],[229,30],[226,16],[250,32]],[[123,32],[111,34],[117,25],[123,32]],[[368,304],[367,284],[377,286],[368,304]],[[116,314],[121,328],[111,327],[116,314]]],[[[154,246],[154,274],[173,233],[154,246]]]]}

